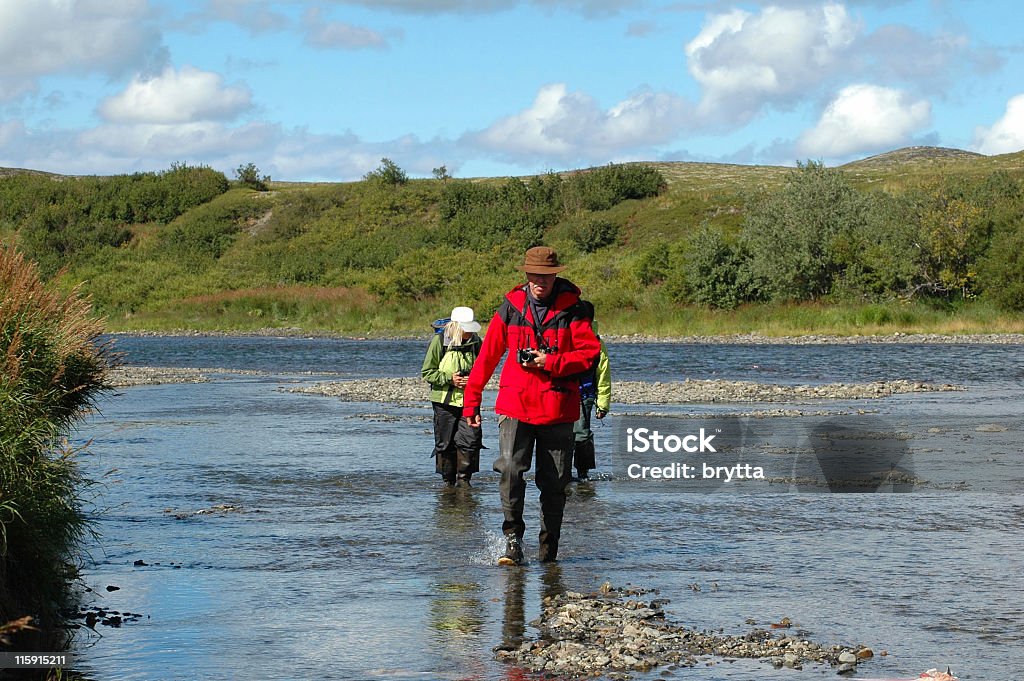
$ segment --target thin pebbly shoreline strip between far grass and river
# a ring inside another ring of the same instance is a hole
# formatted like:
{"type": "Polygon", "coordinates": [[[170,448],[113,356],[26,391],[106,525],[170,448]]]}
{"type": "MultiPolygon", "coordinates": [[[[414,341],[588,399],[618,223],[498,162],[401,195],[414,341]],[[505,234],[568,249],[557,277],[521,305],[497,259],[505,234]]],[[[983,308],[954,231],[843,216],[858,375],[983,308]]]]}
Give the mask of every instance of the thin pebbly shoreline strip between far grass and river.
{"type": "MultiPolygon", "coordinates": [[[[117,331],[105,334],[118,338],[325,338],[358,341],[429,340],[428,335],[407,334],[390,336],[353,336],[330,332],[305,331],[295,327],[286,329],[259,329],[256,331],[117,331]]],[[[760,334],[730,334],[725,336],[650,336],[644,334],[602,334],[609,343],[688,343],[694,345],[859,345],[859,344],[985,344],[1024,345],[1024,334],[904,334],[872,336],[762,336],[760,334]]]]}

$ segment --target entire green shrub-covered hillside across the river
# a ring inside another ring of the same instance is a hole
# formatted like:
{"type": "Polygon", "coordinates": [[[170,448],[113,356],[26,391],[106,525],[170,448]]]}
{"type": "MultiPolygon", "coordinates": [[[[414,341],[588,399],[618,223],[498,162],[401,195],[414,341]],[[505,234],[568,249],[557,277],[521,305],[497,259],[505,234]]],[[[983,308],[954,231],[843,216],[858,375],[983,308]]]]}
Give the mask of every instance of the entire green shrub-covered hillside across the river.
{"type": "Polygon", "coordinates": [[[114,330],[422,332],[457,304],[488,316],[540,243],[606,333],[1024,329],[1024,154],[475,180],[385,159],[346,183],[245,170],[0,173],[0,241],[84,282],[114,330]]]}

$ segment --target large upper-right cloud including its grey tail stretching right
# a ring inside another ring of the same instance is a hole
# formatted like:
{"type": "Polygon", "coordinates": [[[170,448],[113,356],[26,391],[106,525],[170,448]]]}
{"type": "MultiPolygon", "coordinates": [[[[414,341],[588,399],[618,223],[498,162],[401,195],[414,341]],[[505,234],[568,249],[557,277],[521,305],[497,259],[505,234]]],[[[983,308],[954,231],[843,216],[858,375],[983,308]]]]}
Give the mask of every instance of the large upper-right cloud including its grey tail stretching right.
{"type": "Polygon", "coordinates": [[[777,0],[758,11],[709,15],[686,45],[702,89],[700,120],[742,125],[765,107],[790,110],[808,96],[869,78],[922,94],[944,94],[964,74],[999,67],[998,53],[966,34],[927,34],[890,24],[871,33],[837,2],[777,0]]]}

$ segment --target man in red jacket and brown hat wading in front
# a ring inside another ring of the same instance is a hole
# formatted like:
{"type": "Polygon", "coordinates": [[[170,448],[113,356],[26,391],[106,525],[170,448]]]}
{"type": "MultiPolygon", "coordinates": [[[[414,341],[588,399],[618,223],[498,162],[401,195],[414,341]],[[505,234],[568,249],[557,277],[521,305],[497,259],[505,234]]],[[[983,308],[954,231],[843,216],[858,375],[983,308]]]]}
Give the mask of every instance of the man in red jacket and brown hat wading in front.
{"type": "Polygon", "coordinates": [[[526,251],[516,269],[526,284],[505,294],[487,326],[483,346],[469,375],[463,397],[463,416],[480,425],[483,386],[506,350],[508,360],[499,381],[498,441],[501,454],[495,470],[502,474],[501,495],[506,550],[498,562],[522,562],[522,521],[526,483],[537,449],[537,486],[541,491],[542,561],[558,556],[558,539],[565,508],[565,486],[571,475],[572,424],[580,418],[577,375],[588,371],[601,351],[580,289],[557,276],[565,269],[558,254],[545,246],[526,251]]]}

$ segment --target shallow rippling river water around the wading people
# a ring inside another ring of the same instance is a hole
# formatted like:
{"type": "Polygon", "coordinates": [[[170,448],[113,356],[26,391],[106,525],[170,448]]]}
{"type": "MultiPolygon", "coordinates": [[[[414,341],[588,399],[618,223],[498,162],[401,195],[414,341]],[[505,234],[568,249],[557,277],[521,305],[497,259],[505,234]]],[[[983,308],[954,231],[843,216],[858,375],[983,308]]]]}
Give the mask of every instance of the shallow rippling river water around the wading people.
{"type": "MultiPolygon", "coordinates": [[[[605,581],[657,588],[675,620],[699,628],[742,633],[748,618],[765,625],[788,616],[822,643],[889,652],[862,666],[860,678],[949,665],[963,679],[1011,679],[1024,669],[1019,347],[613,345],[622,379],[967,385],[826,408],[879,410],[933,476],[953,479],[985,461],[1000,484],[982,488],[1000,492],[686,495],[598,479],[572,486],[560,562],[509,569],[495,565],[497,475],[475,476],[469,491],[441,490],[428,458],[427,406],[279,389],[317,380],[299,375],[307,371],[416,375],[425,343],[118,345],[129,364],[268,375],[127,388],[82,428],[81,439],[93,440],[85,473],[101,482],[90,509],[101,538],[85,569],[95,589],[87,604],[145,615],[80,632],[89,678],[528,678],[495,662],[493,647],[536,635],[528,623],[545,594],[605,581]],[[976,430],[990,423],[1007,430],[976,430]],[[929,432],[936,427],[941,436],[929,432]],[[120,590],[108,593],[108,585],[120,590]]],[[[679,411],[716,409],[725,408],[679,411]]],[[[596,430],[599,462],[614,430],[596,430]]],[[[484,434],[486,469],[493,422],[484,434]]],[[[538,514],[530,488],[527,554],[538,514]]],[[[668,678],[817,675],[708,662],[668,678]]]]}

